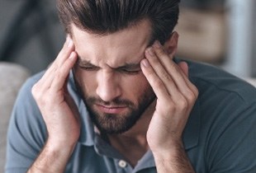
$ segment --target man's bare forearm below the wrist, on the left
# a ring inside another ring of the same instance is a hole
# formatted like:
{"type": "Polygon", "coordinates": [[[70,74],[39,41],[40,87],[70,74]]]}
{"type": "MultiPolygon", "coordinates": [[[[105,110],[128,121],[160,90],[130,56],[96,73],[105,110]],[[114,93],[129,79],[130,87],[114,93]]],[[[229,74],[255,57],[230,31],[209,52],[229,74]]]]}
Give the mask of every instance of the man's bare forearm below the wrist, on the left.
{"type": "Polygon", "coordinates": [[[62,173],[73,152],[73,146],[61,147],[46,143],[27,173],[62,173]]]}

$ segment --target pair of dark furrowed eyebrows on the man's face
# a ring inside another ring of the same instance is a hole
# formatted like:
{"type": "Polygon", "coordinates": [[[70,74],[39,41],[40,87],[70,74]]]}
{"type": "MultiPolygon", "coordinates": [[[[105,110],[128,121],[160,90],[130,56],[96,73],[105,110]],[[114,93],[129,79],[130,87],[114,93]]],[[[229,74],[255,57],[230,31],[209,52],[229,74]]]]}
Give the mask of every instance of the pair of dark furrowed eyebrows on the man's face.
{"type": "MultiPolygon", "coordinates": [[[[93,65],[89,60],[82,59],[78,56],[78,65],[79,66],[90,66],[90,67],[97,67],[96,65],[93,65]]],[[[97,67],[99,68],[99,67],[97,67]]],[[[124,65],[117,67],[117,68],[112,68],[112,69],[139,69],[140,68],[140,63],[125,63],[124,65]]]]}

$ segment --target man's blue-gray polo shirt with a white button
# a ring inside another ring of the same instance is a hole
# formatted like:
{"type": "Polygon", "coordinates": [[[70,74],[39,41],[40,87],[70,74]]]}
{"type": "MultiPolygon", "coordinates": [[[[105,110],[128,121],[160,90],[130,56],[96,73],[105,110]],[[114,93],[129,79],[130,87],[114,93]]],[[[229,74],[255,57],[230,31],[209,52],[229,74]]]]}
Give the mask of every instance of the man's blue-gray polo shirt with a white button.
{"type": "MultiPolygon", "coordinates": [[[[187,63],[189,78],[199,90],[183,132],[183,144],[195,171],[255,173],[256,89],[218,68],[187,63]]],[[[31,77],[17,97],[8,129],[6,173],[26,172],[44,147],[45,123],[31,96],[31,87],[42,75],[31,77]]],[[[132,167],[96,133],[71,75],[69,92],[78,105],[82,128],[65,172],[156,172],[150,150],[132,167]]]]}

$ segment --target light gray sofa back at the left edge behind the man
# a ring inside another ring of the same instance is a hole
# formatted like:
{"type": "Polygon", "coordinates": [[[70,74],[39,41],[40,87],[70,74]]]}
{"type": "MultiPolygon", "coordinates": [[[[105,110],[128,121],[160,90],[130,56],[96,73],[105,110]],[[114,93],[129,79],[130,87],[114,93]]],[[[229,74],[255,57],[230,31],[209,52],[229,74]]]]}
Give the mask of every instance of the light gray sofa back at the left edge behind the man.
{"type": "Polygon", "coordinates": [[[26,68],[15,63],[0,63],[0,172],[3,172],[6,158],[7,126],[17,93],[29,77],[26,68]]]}

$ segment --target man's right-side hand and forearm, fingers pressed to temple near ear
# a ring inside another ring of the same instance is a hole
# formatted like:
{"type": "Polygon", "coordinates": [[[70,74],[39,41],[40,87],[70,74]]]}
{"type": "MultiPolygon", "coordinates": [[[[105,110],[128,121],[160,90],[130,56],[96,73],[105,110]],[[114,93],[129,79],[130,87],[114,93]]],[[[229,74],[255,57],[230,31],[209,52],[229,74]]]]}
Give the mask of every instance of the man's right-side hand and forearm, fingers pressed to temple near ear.
{"type": "Polygon", "coordinates": [[[157,96],[147,140],[159,173],[194,172],[183,149],[182,134],[198,91],[187,78],[187,63],[174,63],[174,53],[175,50],[167,54],[155,43],[146,50],[146,59],[141,62],[142,71],[157,96]]]}

